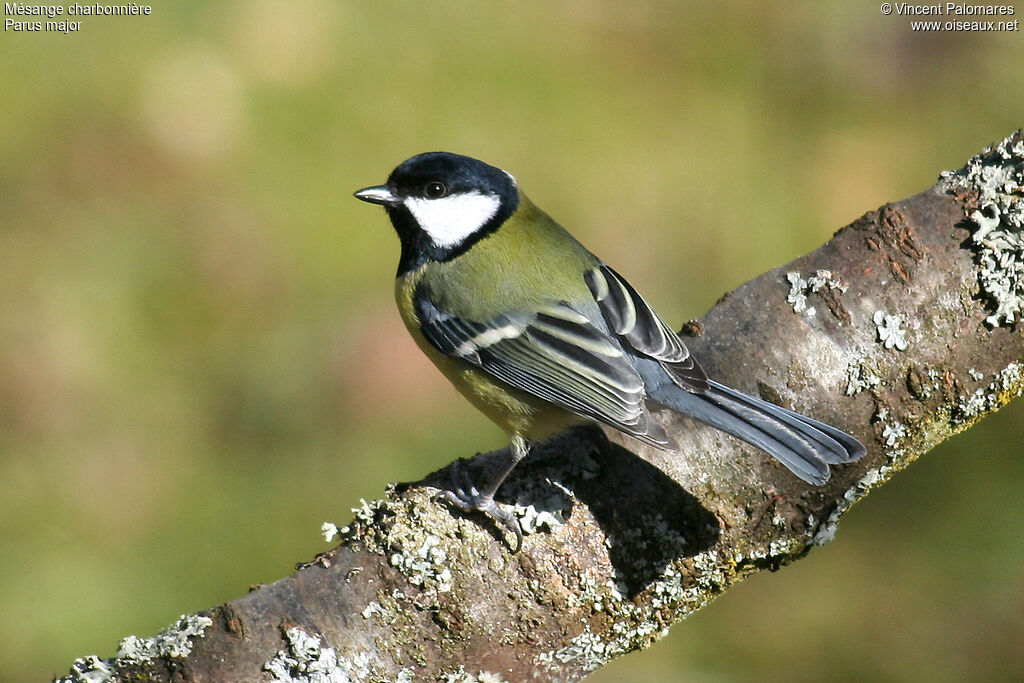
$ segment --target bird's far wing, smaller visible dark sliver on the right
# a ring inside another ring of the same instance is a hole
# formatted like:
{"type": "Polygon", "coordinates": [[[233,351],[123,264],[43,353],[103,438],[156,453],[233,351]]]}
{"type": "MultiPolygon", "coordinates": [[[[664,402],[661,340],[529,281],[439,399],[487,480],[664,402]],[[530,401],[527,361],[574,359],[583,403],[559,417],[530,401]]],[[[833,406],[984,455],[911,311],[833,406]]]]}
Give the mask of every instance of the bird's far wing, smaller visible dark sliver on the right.
{"type": "Polygon", "coordinates": [[[633,287],[609,266],[584,274],[608,328],[629,346],[662,364],[672,381],[693,393],[708,390],[708,375],[675,332],[633,287]]]}

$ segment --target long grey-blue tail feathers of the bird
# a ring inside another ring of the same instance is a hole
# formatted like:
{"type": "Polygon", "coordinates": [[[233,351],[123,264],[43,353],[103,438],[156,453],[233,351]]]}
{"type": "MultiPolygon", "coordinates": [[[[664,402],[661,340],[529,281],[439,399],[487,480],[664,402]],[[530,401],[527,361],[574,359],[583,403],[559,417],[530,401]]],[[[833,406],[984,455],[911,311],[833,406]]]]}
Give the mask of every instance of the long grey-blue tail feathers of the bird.
{"type": "Polygon", "coordinates": [[[703,393],[663,385],[650,398],[769,453],[804,481],[828,480],[828,465],[864,455],[844,431],[710,381],[703,393]]]}

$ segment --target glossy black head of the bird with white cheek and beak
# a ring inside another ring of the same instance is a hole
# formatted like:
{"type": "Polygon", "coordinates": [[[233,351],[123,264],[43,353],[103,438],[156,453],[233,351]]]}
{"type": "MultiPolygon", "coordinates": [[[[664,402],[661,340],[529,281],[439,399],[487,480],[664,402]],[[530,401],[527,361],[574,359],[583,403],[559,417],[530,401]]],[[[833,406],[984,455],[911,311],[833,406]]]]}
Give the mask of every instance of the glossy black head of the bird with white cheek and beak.
{"type": "Polygon", "coordinates": [[[391,171],[385,184],[360,189],[355,197],[387,209],[401,240],[399,274],[462,254],[519,206],[515,178],[447,152],[417,155],[391,171]]]}

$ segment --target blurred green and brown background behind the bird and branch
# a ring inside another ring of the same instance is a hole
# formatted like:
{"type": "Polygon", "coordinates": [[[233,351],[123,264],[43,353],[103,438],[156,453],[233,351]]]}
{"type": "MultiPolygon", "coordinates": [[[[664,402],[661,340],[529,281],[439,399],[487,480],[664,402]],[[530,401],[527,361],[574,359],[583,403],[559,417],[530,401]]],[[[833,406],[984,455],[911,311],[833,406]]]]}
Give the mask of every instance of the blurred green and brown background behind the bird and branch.
{"type": "MultiPolygon", "coordinates": [[[[503,444],[407,338],[397,241],[351,198],[404,158],[511,170],[678,326],[1024,124],[1021,33],[876,2],[158,3],[0,56],[5,681],[503,444]]],[[[1022,430],[1018,401],[592,680],[1020,680],[1022,430]]]]}

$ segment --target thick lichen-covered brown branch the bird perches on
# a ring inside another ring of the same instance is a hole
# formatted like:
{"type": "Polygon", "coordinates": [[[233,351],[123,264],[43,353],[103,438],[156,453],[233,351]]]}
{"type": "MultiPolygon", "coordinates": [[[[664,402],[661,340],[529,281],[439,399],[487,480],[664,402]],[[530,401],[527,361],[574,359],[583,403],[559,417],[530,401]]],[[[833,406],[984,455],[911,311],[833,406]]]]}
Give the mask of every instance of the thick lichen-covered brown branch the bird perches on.
{"type": "Polygon", "coordinates": [[[678,416],[662,416],[678,454],[581,430],[503,487],[530,531],[518,554],[437,501],[436,472],[365,504],[294,574],[68,680],[578,680],[828,542],[871,488],[1020,395],[1022,237],[1018,131],[687,324],[712,377],[867,444],[823,486],[678,416]]]}

